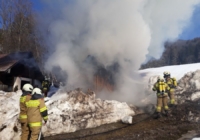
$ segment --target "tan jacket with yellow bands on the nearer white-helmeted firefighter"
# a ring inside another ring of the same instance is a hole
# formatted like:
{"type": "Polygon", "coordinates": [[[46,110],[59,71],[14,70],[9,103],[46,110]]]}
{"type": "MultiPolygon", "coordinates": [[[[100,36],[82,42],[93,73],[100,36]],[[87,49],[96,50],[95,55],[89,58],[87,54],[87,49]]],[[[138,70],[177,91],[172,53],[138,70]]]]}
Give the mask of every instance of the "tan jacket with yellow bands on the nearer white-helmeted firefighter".
{"type": "Polygon", "coordinates": [[[44,102],[44,97],[40,94],[32,95],[32,98],[26,102],[28,124],[30,127],[42,126],[42,119],[47,121],[48,113],[44,102]]]}

